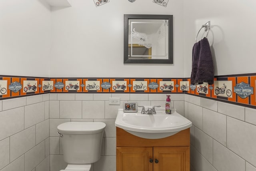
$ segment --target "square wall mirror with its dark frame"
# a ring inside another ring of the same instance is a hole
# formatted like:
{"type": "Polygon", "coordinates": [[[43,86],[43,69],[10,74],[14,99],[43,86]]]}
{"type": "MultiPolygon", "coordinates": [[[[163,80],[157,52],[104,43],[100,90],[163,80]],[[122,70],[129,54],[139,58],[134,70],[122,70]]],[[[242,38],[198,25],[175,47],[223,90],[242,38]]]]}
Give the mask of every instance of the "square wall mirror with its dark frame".
{"type": "Polygon", "coordinates": [[[172,15],[124,14],[124,64],[173,64],[172,15]]]}

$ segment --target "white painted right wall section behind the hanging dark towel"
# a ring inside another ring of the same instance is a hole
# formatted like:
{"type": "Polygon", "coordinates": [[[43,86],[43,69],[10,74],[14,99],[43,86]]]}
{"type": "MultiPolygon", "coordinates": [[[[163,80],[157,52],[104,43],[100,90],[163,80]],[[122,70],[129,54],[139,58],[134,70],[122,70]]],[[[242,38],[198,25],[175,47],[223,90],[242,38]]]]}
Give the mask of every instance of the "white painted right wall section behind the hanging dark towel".
{"type": "Polygon", "coordinates": [[[215,76],[256,72],[255,0],[184,0],[183,20],[184,77],[191,74],[196,34],[208,20],[215,76]]]}

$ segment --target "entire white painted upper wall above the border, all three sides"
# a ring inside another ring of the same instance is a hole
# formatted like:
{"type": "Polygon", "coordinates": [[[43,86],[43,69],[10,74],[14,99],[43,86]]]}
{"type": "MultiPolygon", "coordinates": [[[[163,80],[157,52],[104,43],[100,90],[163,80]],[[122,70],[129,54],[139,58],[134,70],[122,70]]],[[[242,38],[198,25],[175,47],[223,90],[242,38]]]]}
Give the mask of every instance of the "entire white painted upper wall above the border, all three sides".
{"type": "Polygon", "coordinates": [[[201,25],[208,35],[215,75],[255,73],[254,0],[169,0],[166,8],[137,0],[0,2],[1,75],[42,77],[190,77],[192,46],[201,25]],[[123,64],[123,14],[174,15],[174,64],[123,64]]]}

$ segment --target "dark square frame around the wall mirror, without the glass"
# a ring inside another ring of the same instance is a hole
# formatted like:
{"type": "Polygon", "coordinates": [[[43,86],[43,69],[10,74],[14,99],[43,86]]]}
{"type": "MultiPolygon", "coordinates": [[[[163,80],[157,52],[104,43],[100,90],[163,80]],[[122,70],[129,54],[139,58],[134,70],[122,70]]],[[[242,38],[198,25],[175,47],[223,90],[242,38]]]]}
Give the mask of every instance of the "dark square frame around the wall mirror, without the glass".
{"type": "Polygon", "coordinates": [[[124,64],[173,64],[173,16],[172,15],[140,15],[124,14],[124,64]],[[168,59],[132,60],[128,58],[129,19],[159,19],[168,20],[168,59]]]}

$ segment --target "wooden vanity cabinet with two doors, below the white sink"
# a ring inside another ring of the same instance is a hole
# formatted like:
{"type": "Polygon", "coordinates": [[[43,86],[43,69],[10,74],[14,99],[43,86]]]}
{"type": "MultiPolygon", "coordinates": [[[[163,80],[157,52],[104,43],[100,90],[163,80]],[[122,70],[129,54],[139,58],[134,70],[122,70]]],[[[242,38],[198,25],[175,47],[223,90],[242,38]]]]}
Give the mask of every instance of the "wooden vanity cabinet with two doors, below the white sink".
{"type": "Polygon", "coordinates": [[[116,128],[116,171],[190,171],[190,130],[144,139],[116,128]]]}

